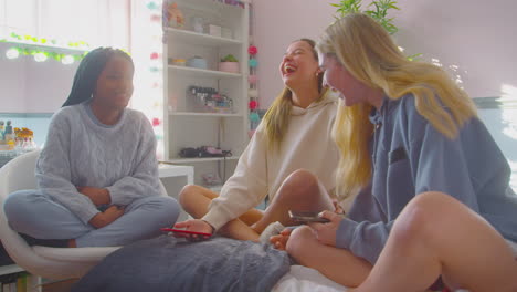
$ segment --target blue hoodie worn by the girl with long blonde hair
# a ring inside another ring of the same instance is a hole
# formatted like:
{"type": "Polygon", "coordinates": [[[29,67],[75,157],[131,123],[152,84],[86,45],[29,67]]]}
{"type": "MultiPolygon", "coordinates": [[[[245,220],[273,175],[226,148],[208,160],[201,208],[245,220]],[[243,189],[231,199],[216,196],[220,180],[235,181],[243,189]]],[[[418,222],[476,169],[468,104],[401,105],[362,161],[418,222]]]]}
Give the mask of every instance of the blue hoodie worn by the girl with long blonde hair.
{"type": "Polygon", "coordinates": [[[336,246],[374,263],[394,220],[419,194],[441,191],[484,217],[503,237],[517,241],[517,196],[510,168],[483,122],[472,117],[450,139],[414,106],[409,94],[384,98],[370,121],[372,178],[338,228],[336,246]]]}

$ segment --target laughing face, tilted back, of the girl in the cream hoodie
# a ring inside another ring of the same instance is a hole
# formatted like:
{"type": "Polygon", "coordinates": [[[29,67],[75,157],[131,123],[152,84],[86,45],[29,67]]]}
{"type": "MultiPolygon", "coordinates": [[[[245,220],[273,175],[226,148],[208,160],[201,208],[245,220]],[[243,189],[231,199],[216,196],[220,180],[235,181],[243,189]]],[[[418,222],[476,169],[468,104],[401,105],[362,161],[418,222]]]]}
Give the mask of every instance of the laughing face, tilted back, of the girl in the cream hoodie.
{"type": "Polygon", "coordinates": [[[291,90],[310,83],[317,86],[318,61],[310,44],[306,41],[292,43],[284,54],[279,71],[284,84],[291,90]]]}

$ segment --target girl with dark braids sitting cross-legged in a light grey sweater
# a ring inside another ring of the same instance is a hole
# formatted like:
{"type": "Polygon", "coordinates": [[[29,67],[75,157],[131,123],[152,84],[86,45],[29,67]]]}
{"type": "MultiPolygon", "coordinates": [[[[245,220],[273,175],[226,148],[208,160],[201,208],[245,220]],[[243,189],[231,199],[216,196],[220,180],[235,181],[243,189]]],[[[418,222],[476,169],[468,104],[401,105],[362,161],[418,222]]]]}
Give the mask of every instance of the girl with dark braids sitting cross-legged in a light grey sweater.
{"type": "Polygon", "coordinates": [[[12,229],[42,242],[109,247],[156,237],[176,222],[178,202],[160,196],[152,127],[127,108],[133,75],[131,58],[120,50],[98,48],[83,59],[38,158],[39,188],[4,202],[12,229]]]}

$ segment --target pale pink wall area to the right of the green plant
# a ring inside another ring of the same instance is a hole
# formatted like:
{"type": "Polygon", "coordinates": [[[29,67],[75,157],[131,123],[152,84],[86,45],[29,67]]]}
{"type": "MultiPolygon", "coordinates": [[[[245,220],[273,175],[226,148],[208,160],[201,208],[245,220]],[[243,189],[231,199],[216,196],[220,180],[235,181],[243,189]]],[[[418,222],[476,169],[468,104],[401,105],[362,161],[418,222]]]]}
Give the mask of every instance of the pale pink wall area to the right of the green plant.
{"type": "Polygon", "coordinates": [[[434,56],[458,65],[472,97],[507,94],[504,85],[517,88],[516,1],[399,0],[399,4],[398,42],[426,60],[434,56]]]}

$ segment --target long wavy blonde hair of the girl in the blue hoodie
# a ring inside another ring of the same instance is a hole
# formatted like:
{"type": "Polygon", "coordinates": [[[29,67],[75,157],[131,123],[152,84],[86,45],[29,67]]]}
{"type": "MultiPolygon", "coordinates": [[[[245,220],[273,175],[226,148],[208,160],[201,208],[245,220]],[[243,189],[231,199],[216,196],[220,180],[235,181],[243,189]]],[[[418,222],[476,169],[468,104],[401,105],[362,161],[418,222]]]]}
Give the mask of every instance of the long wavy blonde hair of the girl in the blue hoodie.
{"type": "MultiPolygon", "coordinates": [[[[467,94],[442,69],[408,61],[388,32],[372,18],[350,13],[330,24],[317,44],[320,53],[334,55],[358,81],[382,90],[391,100],[411,93],[420,115],[449,138],[476,116],[467,94]]],[[[371,179],[368,152],[373,126],[368,119],[371,106],[339,106],[333,136],[340,149],[337,194],[355,196],[371,179]]]]}

